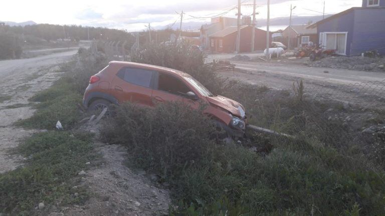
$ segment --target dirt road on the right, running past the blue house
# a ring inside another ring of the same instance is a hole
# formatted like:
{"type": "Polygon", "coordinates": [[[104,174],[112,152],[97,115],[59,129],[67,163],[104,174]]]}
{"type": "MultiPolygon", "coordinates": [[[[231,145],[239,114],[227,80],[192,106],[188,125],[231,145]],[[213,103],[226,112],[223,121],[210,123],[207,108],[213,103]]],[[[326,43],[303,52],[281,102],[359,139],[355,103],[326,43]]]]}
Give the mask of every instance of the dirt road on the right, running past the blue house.
{"type": "Polygon", "coordinates": [[[230,79],[292,91],[303,79],[305,92],[364,107],[385,107],[385,73],[308,67],[279,62],[232,61],[241,71],[221,71],[230,79]],[[325,72],[327,71],[327,72],[325,72]]]}

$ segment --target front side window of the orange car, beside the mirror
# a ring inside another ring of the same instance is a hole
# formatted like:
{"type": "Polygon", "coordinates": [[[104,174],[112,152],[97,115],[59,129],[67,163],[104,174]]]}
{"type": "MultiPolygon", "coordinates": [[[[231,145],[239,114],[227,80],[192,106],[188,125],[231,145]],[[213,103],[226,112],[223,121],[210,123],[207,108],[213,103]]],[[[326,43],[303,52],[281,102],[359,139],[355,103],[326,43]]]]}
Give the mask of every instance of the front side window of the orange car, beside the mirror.
{"type": "Polygon", "coordinates": [[[191,91],[180,79],[165,73],[159,73],[158,90],[167,91],[181,96],[188,91],[191,91]]]}

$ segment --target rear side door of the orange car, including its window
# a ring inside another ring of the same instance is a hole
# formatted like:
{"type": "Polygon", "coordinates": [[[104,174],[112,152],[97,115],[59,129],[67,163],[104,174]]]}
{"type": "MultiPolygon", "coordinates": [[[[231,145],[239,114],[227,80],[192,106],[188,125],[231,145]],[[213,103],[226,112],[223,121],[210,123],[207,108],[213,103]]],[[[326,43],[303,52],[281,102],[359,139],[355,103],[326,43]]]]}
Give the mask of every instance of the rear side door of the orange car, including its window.
{"type": "Polygon", "coordinates": [[[119,102],[131,101],[138,105],[149,106],[152,94],[154,71],[135,68],[121,68],[113,80],[112,90],[119,102]]]}

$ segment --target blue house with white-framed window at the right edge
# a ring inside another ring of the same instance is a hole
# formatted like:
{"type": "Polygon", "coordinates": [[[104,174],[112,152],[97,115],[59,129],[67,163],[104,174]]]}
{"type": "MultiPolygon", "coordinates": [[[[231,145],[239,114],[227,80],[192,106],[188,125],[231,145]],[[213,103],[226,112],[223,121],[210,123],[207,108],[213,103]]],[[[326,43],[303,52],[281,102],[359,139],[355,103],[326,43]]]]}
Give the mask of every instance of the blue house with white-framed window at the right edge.
{"type": "Polygon", "coordinates": [[[362,0],[308,28],[317,27],[319,44],[347,56],[378,50],[385,55],[385,0],[362,0]]]}

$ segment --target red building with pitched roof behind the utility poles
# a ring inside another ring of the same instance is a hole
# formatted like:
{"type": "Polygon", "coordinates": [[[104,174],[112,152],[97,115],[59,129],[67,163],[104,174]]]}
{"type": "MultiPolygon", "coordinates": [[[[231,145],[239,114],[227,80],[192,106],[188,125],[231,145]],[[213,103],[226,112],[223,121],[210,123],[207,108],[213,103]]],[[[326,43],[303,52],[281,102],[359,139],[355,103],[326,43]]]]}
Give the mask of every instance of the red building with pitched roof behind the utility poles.
{"type": "MultiPolygon", "coordinates": [[[[253,26],[251,25],[241,26],[240,52],[251,52],[252,30],[253,30],[253,26]]],[[[254,28],[254,30],[255,30],[254,50],[264,50],[266,48],[266,37],[267,37],[266,31],[259,28],[254,28]]],[[[229,26],[224,28],[223,30],[217,31],[209,35],[210,50],[212,52],[236,51],[237,35],[238,35],[237,26],[229,26]]]]}

